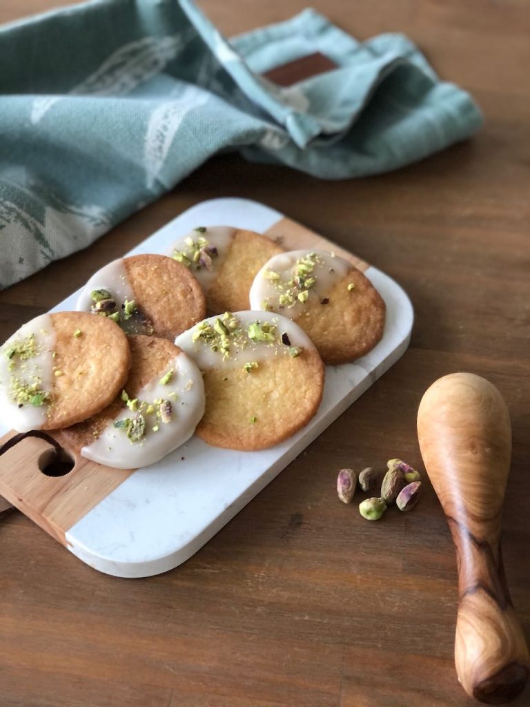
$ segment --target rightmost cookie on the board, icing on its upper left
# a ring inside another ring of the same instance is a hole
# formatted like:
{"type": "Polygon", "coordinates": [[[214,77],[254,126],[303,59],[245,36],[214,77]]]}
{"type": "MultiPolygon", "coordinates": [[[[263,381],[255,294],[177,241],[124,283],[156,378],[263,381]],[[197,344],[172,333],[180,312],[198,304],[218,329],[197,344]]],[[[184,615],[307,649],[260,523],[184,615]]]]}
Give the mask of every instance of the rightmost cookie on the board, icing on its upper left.
{"type": "Polygon", "coordinates": [[[250,306],[297,322],[324,363],[364,356],[383,335],[384,300],[370,280],[347,260],[320,250],[271,258],[254,279],[250,306]]]}

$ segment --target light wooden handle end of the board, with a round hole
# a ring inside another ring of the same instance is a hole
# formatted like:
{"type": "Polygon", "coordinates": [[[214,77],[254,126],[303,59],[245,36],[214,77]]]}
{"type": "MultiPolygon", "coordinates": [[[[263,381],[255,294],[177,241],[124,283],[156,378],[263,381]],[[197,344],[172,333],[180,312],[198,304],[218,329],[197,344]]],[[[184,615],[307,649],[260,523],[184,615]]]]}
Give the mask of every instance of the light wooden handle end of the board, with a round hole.
{"type": "MultiPolygon", "coordinates": [[[[1,438],[0,445],[13,434],[10,432],[1,438]]],[[[25,438],[0,457],[0,494],[66,545],[66,530],[132,472],[83,459],[69,448],[60,433],[53,436],[75,460],[73,469],[61,477],[47,476],[39,466],[40,460],[49,453],[50,445],[45,440],[25,438]]]]}

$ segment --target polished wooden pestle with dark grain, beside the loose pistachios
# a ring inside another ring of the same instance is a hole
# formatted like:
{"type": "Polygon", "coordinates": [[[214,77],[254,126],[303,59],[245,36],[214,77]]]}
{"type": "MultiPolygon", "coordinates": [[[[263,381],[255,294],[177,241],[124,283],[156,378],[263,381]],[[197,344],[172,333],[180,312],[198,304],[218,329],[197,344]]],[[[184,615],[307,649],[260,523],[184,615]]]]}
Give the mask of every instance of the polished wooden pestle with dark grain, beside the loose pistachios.
{"type": "Polygon", "coordinates": [[[446,375],[420,402],[418,438],[457,549],[459,681],[481,702],[505,703],[522,692],[530,668],[500,550],[512,451],[506,404],[478,375],[446,375]]]}

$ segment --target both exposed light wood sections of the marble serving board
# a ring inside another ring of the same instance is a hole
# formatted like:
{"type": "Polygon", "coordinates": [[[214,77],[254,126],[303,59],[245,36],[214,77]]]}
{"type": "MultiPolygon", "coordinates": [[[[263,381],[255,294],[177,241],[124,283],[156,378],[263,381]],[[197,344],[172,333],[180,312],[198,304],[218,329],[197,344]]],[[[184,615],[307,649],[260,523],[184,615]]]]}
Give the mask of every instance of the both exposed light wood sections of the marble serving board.
{"type": "MultiPolygon", "coordinates": [[[[276,240],[285,250],[327,250],[348,259],[360,270],[368,267],[363,260],[290,218],[281,218],[264,235],[276,240]]],[[[11,431],[1,438],[0,446],[13,434],[11,431]]],[[[40,439],[25,439],[0,457],[0,496],[65,545],[66,531],[134,470],[124,471],[90,462],[79,455],[79,450],[71,448],[60,432],[52,436],[75,460],[73,469],[62,477],[47,476],[39,469],[39,459],[49,450],[49,444],[40,439]]]]}

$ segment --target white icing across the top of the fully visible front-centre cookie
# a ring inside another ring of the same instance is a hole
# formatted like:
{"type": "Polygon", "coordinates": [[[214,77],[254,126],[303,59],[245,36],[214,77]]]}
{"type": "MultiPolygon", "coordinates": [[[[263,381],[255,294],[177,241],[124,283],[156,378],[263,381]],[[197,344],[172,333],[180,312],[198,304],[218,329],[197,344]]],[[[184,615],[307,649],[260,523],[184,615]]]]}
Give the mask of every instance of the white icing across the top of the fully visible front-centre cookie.
{"type": "MultiPolygon", "coordinates": [[[[296,351],[293,351],[293,349],[297,347],[316,351],[310,337],[300,329],[298,324],[288,317],[275,314],[274,312],[257,312],[250,310],[234,312],[234,314],[230,316],[235,317],[235,320],[237,320],[237,329],[234,329],[236,332],[235,335],[228,335],[229,349],[227,355],[224,355],[222,351],[214,351],[212,349],[212,344],[213,346],[218,344],[216,339],[198,337],[199,332],[204,330],[201,329],[201,327],[205,326],[205,322],[206,325],[215,327],[216,320],[223,321],[223,317],[227,317],[227,315],[208,317],[208,319],[203,322],[199,322],[199,324],[192,327],[192,329],[188,329],[187,332],[179,334],[175,339],[175,344],[183,351],[186,351],[189,356],[192,356],[201,370],[221,367],[237,368],[237,366],[244,366],[245,363],[253,361],[259,364],[275,356],[296,354],[296,351]],[[272,327],[275,327],[273,341],[269,343],[253,341],[249,338],[249,325],[253,325],[255,322],[258,322],[259,326],[267,322],[272,327]],[[238,330],[241,332],[240,334],[237,333],[238,330]],[[283,337],[283,334],[286,334],[286,338],[283,337]],[[287,343],[284,343],[282,337],[287,343]]],[[[225,321],[227,320],[225,319],[225,321]]]]}

